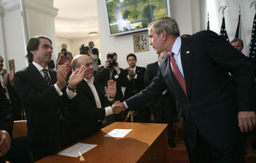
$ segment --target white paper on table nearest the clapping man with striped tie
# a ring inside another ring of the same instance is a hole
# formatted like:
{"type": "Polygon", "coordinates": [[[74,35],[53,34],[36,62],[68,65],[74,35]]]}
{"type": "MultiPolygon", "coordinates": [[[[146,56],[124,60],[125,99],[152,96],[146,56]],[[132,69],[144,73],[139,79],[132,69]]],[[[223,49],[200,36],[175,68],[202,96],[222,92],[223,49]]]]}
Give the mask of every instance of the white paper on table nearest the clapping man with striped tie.
{"type": "Polygon", "coordinates": [[[58,155],[77,158],[96,146],[97,145],[95,144],[78,143],[75,144],[74,146],[71,146],[70,148],[67,148],[66,150],[59,152],[58,155]]]}

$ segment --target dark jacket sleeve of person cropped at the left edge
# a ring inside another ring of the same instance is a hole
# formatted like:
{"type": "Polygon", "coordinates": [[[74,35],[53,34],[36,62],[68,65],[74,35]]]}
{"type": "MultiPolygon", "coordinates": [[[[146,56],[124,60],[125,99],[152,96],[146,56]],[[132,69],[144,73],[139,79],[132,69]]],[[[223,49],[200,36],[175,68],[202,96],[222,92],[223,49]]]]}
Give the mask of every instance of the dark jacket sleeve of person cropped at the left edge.
{"type": "MultiPolygon", "coordinates": [[[[0,90],[0,130],[5,130],[12,136],[13,118],[12,111],[9,106],[9,101],[0,90]]],[[[0,163],[5,163],[4,159],[0,157],[0,163]]]]}

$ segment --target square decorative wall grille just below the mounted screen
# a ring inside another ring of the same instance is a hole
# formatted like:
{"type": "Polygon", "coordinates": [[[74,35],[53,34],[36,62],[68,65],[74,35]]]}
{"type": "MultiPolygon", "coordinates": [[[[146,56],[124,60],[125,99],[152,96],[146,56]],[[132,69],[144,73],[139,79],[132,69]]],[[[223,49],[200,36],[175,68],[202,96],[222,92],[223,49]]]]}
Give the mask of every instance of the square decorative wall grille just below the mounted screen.
{"type": "Polygon", "coordinates": [[[149,51],[148,33],[133,35],[134,53],[149,51]]]}

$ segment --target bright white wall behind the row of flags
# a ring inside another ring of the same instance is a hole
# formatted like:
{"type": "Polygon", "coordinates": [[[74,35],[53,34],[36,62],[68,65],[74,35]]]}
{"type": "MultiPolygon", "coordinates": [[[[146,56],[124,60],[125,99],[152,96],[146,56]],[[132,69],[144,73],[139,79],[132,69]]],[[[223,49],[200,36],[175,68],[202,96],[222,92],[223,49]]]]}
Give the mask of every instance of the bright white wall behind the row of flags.
{"type": "MultiPolygon", "coordinates": [[[[254,6],[250,8],[252,0],[200,0],[202,1],[201,10],[205,9],[204,17],[202,18],[203,29],[207,29],[207,12],[209,12],[210,28],[217,34],[220,33],[222,24],[222,11],[218,13],[220,6],[228,6],[229,10],[225,10],[225,24],[228,33],[229,40],[235,38],[237,24],[238,24],[238,7],[241,6],[241,16],[243,20],[246,42],[247,45],[250,43],[253,20],[255,15],[254,6]]],[[[202,15],[203,16],[203,15],[202,15]]],[[[249,49],[248,49],[249,50],[249,49]]]]}

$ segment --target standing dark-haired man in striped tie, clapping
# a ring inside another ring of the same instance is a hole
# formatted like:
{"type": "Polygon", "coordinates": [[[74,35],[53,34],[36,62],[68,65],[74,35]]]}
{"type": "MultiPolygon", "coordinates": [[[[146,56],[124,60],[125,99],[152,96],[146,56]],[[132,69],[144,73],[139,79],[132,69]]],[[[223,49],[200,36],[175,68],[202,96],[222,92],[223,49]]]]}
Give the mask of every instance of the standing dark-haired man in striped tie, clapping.
{"type": "Polygon", "coordinates": [[[75,96],[75,86],[83,80],[82,72],[85,72],[84,67],[74,72],[66,89],[66,65],[57,73],[47,67],[52,52],[49,38],[31,38],[26,55],[29,66],[14,75],[14,87],[27,117],[28,152],[33,153],[34,161],[72,142],[63,101],[75,96]]]}

